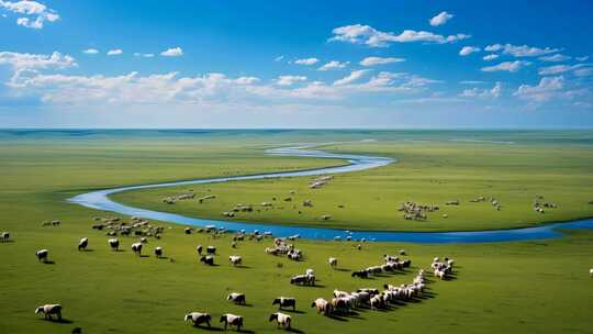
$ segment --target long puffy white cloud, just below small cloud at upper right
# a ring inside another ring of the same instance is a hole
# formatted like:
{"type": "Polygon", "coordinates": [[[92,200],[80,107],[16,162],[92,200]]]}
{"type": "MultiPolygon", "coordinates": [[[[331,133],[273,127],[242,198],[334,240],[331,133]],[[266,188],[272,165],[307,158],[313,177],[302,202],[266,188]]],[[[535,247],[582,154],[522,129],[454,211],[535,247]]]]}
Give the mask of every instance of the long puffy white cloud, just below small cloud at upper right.
{"type": "Polygon", "coordinates": [[[437,35],[432,32],[404,30],[401,34],[395,35],[389,32],[376,30],[370,25],[353,24],[334,29],[334,36],[329,41],[340,41],[354,44],[366,44],[370,47],[385,47],[391,43],[455,43],[461,40],[471,37],[467,34],[456,34],[449,36],[437,35]]]}

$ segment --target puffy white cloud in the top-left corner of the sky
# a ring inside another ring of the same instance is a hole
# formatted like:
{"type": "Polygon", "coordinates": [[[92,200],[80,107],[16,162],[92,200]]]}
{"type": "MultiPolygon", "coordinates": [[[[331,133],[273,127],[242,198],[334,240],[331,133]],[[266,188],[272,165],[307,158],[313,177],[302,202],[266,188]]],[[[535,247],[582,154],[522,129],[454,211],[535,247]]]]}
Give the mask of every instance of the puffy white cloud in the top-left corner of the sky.
{"type": "Polygon", "coordinates": [[[58,13],[47,8],[45,4],[37,1],[3,1],[0,0],[0,9],[3,8],[13,13],[22,14],[16,19],[16,24],[31,27],[42,29],[45,21],[55,22],[59,20],[58,13]]]}

